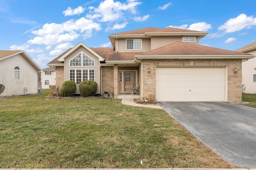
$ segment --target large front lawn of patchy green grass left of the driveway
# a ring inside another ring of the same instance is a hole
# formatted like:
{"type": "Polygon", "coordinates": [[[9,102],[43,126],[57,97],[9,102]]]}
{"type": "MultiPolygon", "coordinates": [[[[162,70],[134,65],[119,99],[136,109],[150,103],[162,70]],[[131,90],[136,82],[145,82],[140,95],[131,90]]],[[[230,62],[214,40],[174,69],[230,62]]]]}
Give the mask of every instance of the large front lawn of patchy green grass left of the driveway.
{"type": "Polygon", "coordinates": [[[49,92],[0,99],[1,168],[234,168],[164,110],[49,92]]]}

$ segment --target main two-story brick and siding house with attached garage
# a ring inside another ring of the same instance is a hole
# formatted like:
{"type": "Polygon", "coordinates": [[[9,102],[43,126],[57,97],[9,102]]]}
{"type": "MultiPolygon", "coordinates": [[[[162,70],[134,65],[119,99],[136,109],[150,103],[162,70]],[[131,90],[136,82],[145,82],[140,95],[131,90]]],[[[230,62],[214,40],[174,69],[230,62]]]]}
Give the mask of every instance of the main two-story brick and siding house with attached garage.
{"type": "Polygon", "coordinates": [[[98,84],[97,94],[132,94],[161,101],[241,102],[242,64],[253,55],[199,45],[208,33],[147,27],[109,35],[112,48],[80,42],[48,66],[56,84],[83,80],[98,84]],[[236,72],[234,71],[236,70],[236,72]]]}

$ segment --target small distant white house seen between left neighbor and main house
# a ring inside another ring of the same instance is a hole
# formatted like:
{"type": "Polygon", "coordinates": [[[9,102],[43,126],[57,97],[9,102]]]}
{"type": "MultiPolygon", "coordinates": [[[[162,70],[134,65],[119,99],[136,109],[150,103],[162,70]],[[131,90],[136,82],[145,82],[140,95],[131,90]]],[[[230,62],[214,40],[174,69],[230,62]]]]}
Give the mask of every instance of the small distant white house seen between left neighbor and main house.
{"type": "Polygon", "coordinates": [[[55,86],[56,74],[54,67],[48,67],[43,69],[42,73],[42,88],[51,88],[55,86]]]}

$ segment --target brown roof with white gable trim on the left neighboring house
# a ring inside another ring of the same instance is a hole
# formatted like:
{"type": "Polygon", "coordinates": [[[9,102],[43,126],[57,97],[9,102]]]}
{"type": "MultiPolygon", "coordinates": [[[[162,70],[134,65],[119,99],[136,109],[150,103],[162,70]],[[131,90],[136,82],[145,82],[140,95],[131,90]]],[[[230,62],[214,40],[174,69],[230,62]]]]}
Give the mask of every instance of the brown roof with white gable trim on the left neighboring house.
{"type": "Polygon", "coordinates": [[[21,54],[36,70],[42,71],[40,66],[23,50],[0,50],[0,61],[21,54]]]}

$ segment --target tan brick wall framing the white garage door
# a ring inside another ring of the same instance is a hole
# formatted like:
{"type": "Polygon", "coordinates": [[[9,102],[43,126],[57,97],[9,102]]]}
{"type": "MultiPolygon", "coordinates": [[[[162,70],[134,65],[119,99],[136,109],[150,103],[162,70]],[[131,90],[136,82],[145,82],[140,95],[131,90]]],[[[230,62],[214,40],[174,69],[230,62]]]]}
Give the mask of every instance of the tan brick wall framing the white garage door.
{"type": "Polygon", "coordinates": [[[156,94],[156,67],[157,66],[227,66],[227,102],[242,101],[242,62],[234,60],[143,60],[143,97],[156,94]],[[150,68],[150,73],[148,73],[150,68]],[[237,73],[234,73],[234,68],[237,73]],[[146,83],[146,80],[152,83],[146,83]]]}

